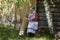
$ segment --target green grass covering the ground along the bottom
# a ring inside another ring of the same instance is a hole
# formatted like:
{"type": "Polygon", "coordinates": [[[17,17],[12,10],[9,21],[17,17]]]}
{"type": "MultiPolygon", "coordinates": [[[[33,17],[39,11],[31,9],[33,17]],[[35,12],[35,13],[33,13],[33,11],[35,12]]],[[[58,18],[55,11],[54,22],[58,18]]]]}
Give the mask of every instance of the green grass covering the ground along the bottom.
{"type": "Polygon", "coordinates": [[[27,37],[19,36],[19,30],[7,29],[5,27],[0,27],[0,40],[53,40],[53,37],[49,32],[41,33],[41,37],[27,37]]]}

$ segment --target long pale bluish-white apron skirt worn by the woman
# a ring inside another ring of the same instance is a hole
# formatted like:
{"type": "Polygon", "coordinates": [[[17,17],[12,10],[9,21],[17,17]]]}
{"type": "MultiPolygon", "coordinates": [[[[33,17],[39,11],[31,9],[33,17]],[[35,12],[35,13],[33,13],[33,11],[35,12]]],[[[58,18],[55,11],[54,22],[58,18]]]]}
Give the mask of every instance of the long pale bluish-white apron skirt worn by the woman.
{"type": "MultiPolygon", "coordinates": [[[[30,15],[32,16],[32,14],[29,14],[29,17],[30,15]]],[[[32,16],[32,18],[34,18],[35,15],[32,16]]],[[[29,21],[28,22],[28,27],[27,27],[27,33],[34,33],[35,34],[35,31],[38,29],[38,21],[29,21]]]]}

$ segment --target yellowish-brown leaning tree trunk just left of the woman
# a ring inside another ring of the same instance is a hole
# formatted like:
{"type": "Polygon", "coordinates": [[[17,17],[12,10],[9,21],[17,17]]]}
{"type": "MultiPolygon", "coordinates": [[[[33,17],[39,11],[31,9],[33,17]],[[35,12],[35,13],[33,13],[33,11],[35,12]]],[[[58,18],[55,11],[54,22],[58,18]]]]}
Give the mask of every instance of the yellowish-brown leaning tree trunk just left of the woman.
{"type": "Polygon", "coordinates": [[[26,2],[26,3],[22,3],[22,16],[23,16],[23,21],[22,21],[22,25],[21,25],[21,28],[20,28],[20,32],[19,32],[19,35],[21,34],[21,31],[23,31],[23,34],[27,28],[27,20],[26,20],[26,16],[28,15],[29,13],[29,4],[26,2]]]}

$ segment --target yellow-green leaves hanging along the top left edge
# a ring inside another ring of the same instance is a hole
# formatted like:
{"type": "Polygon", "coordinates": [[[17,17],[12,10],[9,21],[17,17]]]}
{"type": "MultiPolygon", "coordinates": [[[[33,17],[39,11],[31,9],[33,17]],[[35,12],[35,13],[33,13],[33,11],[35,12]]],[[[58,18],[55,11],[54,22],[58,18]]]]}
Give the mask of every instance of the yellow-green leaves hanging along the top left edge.
{"type": "MultiPolygon", "coordinates": [[[[7,6],[8,8],[11,7],[11,1],[12,1],[12,0],[5,0],[5,1],[6,1],[6,3],[7,3],[6,6],[7,6]]],[[[19,7],[20,4],[23,3],[23,2],[28,2],[28,3],[30,4],[29,0],[13,0],[13,2],[16,3],[16,5],[17,5],[18,7],[19,7]]],[[[3,8],[3,7],[5,7],[4,0],[2,0],[2,4],[1,4],[1,7],[0,7],[0,8],[3,8]]]]}

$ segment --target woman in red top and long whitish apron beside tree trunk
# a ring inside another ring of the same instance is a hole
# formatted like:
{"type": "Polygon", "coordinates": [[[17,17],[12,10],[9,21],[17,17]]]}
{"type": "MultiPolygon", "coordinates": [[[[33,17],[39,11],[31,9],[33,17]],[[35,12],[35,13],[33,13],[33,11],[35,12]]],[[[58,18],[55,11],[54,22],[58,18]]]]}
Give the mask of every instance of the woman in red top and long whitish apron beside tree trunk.
{"type": "Polygon", "coordinates": [[[28,20],[27,35],[29,37],[34,36],[35,31],[38,29],[38,14],[35,11],[35,7],[30,8],[30,13],[26,18],[28,20]]]}

